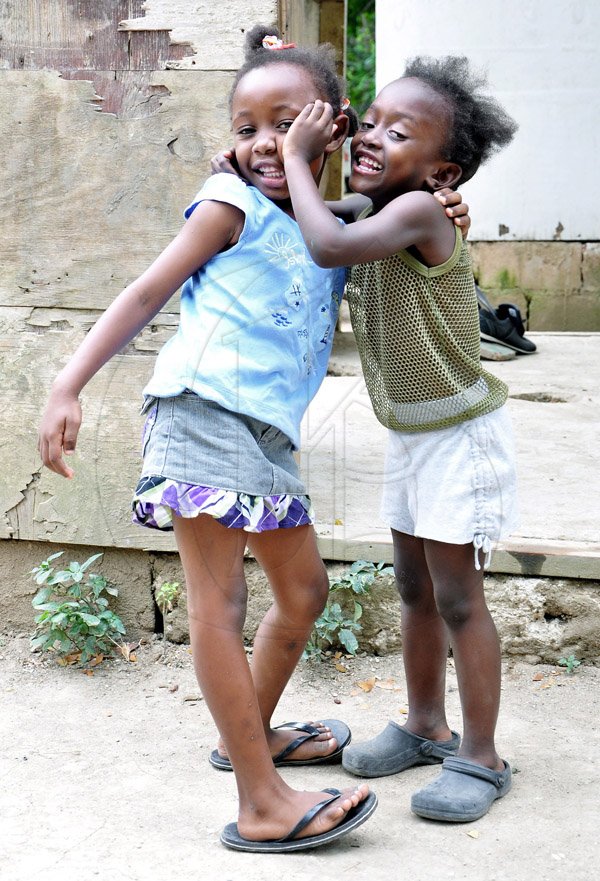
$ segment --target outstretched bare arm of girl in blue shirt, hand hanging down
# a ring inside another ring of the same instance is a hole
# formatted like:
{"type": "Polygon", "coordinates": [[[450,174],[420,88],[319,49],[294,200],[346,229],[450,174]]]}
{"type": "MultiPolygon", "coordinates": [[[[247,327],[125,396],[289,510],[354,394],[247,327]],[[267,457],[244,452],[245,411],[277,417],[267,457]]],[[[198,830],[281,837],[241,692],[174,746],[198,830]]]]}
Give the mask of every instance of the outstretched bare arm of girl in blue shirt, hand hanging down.
{"type": "Polygon", "coordinates": [[[75,450],[81,424],[79,394],[84,386],[145,327],[198,267],[237,241],[243,222],[243,213],[232,205],[201,202],[162,254],[98,319],[54,380],[42,416],[38,449],[51,471],[73,476],[62,457],[75,450]]]}

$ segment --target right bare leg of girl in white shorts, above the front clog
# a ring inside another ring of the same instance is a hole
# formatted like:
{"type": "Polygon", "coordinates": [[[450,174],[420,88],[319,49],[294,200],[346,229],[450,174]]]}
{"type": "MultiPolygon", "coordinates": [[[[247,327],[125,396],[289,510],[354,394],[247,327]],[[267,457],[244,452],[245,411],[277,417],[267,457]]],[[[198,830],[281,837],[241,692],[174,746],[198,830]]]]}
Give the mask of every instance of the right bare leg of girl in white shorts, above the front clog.
{"type": "Polygon", "coordinates": [[[473,546],[424,540],[437,608],[450,634],[463,713],[459,755],[503,770],[494,731],[500,706],[500,645],[473,546]]]}

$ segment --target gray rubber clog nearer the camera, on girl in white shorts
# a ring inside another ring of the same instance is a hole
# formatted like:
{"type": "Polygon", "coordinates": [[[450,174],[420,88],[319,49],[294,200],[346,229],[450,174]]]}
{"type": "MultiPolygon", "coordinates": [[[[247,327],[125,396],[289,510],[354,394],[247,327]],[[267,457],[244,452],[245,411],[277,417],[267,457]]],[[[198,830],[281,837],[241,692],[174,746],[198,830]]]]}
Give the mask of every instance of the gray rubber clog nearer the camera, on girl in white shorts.
{"type": "Polygon", "coordinates": [[[510,765],[504,762],[503,771],[493,771],[469,759],[458,756],[444,759],[442,771],[433,783],[415,792],[411,809],[428,820],[449,823],[470,823],[490,809],[497,798],[502,798],[512,785],[510,765]]]}

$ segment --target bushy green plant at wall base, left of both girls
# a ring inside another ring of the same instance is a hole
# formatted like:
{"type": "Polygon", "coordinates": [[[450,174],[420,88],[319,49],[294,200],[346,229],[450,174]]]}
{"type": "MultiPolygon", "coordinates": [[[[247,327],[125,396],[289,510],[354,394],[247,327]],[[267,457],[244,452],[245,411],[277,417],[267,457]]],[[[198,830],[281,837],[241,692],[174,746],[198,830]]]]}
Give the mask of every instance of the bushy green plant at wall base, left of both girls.
{"type": "Polygon", "coordinates": [[[31,570],[34,581],[41,585],[32,600],[38,614],[31,646],[58,657],[74,656],[85,665],[93,658],[102,660],[111,655],[114,646],[122,642],[125,626],[103,596],[117,596],[118,590],[104,576],[88,572],[102,554],[94,554],[85,563],[71,562],[57,571],[52,564],[62,554],[51,554],[31,570]]]}

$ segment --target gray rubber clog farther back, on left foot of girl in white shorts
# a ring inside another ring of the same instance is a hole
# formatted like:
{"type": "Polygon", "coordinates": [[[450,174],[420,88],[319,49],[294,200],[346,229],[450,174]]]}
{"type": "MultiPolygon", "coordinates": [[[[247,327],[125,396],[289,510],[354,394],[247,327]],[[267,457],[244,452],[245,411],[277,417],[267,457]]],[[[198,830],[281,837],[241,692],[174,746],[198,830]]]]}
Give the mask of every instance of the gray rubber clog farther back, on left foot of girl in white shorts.
{"type": "Polygon", "coordinates": [[[396,722],[388,722],[372,740],[346,747],[342,765],[357,777],[386,777],[415,765],[438,764],[455,755],[459,746],[460,736],[455,731],[450,740],[427,740],[396,722]]]}

